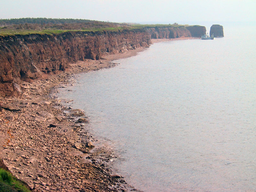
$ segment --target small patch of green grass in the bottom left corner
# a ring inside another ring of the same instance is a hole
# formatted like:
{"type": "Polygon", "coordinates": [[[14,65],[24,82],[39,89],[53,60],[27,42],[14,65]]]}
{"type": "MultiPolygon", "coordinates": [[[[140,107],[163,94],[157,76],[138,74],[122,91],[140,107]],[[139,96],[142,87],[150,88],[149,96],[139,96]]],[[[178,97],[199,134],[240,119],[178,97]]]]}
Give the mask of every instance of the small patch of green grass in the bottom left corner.
{"type": "Polygon", "coordinates": [[[0,191],[3,192],[29,192],[20,181],[16,180],[15,177],[8,171],[0,168],[0,191]]]}

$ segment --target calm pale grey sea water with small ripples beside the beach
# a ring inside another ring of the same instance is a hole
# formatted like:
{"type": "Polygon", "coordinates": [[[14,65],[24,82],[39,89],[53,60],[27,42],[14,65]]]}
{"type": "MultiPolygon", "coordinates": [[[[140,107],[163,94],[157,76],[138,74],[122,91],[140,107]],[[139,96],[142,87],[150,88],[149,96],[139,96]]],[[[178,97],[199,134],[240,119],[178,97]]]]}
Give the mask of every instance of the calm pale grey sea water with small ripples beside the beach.
{"type": "Polygon", "coordinates": [[[138,189],[256,191],[256,41],[246,30],[153,44],[78,76],[60,97],[85,110],[138,189]]]}

